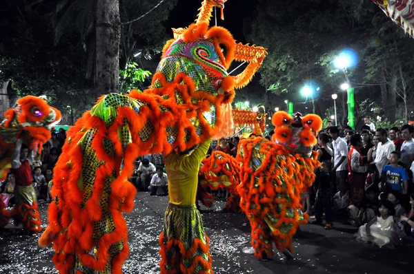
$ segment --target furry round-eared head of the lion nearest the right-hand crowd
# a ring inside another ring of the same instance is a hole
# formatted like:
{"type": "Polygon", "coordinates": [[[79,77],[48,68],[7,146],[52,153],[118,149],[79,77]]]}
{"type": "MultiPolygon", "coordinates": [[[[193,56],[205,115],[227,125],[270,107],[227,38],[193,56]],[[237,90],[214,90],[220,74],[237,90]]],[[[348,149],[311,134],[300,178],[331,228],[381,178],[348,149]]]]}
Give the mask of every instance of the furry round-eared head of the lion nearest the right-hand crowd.
{"type": "Polygon", "coordinates": [[[276,112],[272,123],[275,126],[273,142],[283,145],[292,154],[309,155],[317,143],[317,133],[322,129],[322,119],[316,114],[302,117],[297,112],[290,117],[286,112],[276,112]]]}

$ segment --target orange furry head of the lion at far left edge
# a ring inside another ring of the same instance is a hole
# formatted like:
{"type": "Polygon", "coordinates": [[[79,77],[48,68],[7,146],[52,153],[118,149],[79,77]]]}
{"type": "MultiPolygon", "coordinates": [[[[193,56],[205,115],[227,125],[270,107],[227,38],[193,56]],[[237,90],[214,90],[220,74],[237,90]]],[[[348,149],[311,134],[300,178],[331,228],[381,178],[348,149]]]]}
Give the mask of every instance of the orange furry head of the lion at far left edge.
{"type": "MultiPolygon", "coordinates": [[[[43,143],[46,143],[51,135],[52,126],[59,123],[61,113],[55,107],[50,107],[43,98],[26,96],[17,100],[17,105],[8,109],[4,114],[0,128],[14,129],[15,131],[27,131],[30,136],[28,140],[30,149],[40,151],[43,143]]],[[[19,136],[16,136],[19,138],[19,136]]],[[[6,142],[6,138],[2,138],[6,142]]],[[[12,141],[10,138],[9,141],[12,141]]]]}

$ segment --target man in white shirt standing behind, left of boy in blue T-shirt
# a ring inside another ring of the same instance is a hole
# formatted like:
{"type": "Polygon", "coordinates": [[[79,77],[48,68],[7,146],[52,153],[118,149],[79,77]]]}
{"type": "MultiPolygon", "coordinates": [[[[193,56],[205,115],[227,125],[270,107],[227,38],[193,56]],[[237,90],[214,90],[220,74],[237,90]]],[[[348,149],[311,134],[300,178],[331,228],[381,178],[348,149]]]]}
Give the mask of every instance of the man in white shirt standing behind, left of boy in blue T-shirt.
{"type": "Polygon", "coordinates": [[[375,178],[378,178],[382,169],[388,164],[388,158],[390,158],[391,152],[395,151],[395,145],[391,140],[388,140],[385,129],[377,129],[375,136],[380,143],[377,145],[375,160],[371,164],[375,164],[377,167],[375,178]]]}

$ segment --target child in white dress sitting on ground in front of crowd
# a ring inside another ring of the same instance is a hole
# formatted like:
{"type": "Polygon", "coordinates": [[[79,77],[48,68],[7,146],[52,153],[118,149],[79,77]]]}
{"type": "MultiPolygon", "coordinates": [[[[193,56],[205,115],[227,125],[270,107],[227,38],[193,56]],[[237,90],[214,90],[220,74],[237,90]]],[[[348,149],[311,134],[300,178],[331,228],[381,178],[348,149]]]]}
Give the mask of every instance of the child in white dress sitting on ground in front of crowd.
{"type": "Polygon", "coordinates": [[[393,220],[393,203],[385,200],[380,202],[380,216],[375,216],[368,224],[359,226],[355,234],[359,242],[371,242],[377,246],[387,246],[391,249],[397,246],[400,233],[393,220]]]}

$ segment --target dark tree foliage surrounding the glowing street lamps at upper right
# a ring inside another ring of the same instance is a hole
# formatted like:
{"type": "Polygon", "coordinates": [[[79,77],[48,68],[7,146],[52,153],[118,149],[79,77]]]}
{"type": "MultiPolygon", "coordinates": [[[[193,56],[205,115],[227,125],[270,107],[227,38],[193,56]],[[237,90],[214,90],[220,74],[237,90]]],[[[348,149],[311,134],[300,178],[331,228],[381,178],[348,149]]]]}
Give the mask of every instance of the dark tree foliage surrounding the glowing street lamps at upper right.
{"type": "MultiPolygon", "coordinates": [[[[346,80],[333,67],[344,48],[359,54],[357,66],[346,72],[357,102],[377,101],[385,116],[395,120],[395,103],[414,90],[414,39],[372,1],[259,0],[251,26],[245,29],[254,43],[268,48],[260,83],[280,101],[304,101],[299,89],[313,81],[321,87],[314,98],[323,116],[332,104],[331,94],[346,80]]],[[[358,103],[356,111],[361,117],[358,103]]]]}

